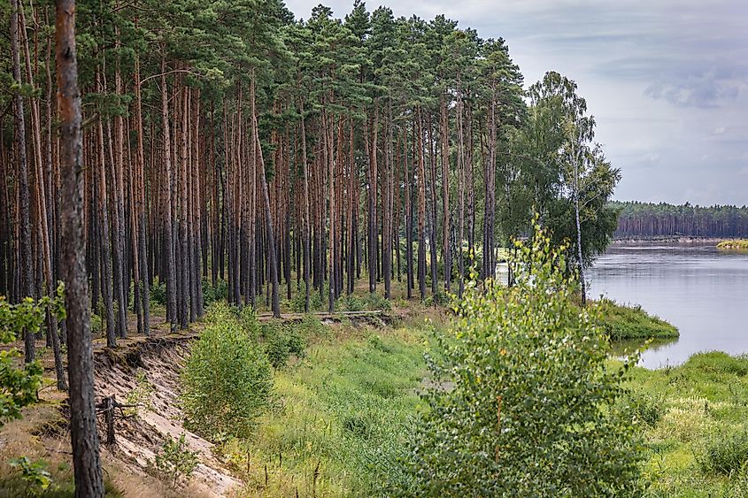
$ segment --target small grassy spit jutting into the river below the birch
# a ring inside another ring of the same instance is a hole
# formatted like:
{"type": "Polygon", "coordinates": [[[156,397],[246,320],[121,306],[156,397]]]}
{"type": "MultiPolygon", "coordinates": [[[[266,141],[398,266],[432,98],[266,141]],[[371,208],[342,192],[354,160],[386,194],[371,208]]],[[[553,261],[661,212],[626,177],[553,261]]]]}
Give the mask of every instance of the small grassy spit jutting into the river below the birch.
{"type": "Polygon", "coordinates": [[[624,306],[603,299],[594,304],[611,341],[667,339],[678,337],[678,329],[650,315],[641,306],[624,306]]]}

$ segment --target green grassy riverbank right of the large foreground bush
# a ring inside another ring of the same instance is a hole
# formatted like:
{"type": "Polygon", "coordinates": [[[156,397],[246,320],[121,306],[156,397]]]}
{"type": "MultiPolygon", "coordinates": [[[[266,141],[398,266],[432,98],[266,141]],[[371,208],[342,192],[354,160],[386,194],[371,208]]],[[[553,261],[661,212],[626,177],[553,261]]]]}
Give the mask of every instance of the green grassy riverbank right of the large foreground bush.
{"type": "Polygon", "coordinates": [[[748,357],[712,352],[629,382],[652,496],[748,495],[748,357]]]}

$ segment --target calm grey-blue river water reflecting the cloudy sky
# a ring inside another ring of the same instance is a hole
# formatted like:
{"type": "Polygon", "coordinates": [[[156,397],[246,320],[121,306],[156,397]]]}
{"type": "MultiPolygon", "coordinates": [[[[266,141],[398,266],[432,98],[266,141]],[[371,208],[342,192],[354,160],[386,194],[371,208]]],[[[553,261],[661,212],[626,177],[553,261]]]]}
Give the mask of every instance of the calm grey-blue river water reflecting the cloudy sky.
{"type": "Polygon", "coordinates": [[[748,352],[748,254],[714,244],[613,244],[589,272],[590,296],[641,304],[677,326],[677,341],[652,345],[649,368],[698,351],[748,352]]]}

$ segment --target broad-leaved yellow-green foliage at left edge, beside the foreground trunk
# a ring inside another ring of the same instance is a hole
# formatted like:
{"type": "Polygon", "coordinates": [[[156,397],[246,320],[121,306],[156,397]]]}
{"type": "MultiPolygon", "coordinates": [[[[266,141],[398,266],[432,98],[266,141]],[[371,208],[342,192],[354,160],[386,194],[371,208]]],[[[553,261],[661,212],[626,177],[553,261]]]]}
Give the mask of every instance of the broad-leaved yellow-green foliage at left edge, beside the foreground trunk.
{"type": "MultiPolygon", "coordinates": [[[[24,331],[39,333],[47,310],[57,319],[65,318],[64,292],[60,282],[53,298],[44,296],[36,302],[27,297],[10,304],[0,295],[0,342],[15,341],[24,331]]],[[[32,362],[19,367],[22,357],[16,348],[0,351],[0,424],[19,418],[20,409],[36,401],[36,392],[42,386],[42,365],[32,362]]]]}

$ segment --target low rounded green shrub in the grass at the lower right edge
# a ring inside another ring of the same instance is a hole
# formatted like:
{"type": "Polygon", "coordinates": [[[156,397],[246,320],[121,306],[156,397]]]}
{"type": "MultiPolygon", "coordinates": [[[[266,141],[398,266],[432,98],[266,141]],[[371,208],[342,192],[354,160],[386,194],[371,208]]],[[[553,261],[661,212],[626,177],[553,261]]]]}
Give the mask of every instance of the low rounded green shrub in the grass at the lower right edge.
{"type": "Polygon", "coordinates": [[[698,448],[696,460],[702,471],[731,475],[746,470],[748,464],[748,431],[716,434],[698,448]]]}

